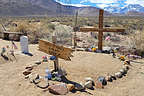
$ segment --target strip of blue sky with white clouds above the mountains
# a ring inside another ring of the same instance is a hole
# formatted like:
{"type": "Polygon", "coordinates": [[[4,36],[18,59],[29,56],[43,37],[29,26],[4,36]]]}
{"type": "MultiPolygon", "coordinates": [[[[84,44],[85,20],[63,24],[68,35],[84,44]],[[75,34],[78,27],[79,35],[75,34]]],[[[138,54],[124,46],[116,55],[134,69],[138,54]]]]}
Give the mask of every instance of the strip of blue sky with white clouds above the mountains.
{"type": "Polygon", "coordinates": [[[104,8],[107,6],[124,7],[128,4],[140,4],[144,6],[144,0],[56,0],[62,4],[74,6],[94,6],[104,8]]]}

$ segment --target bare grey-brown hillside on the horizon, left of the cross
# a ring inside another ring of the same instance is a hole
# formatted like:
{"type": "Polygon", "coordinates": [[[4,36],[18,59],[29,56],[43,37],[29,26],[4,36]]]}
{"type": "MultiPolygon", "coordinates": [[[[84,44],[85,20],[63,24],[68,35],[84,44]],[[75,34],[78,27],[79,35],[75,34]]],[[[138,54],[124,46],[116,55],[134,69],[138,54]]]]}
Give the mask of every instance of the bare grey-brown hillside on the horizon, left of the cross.
{"type": "Polygon", "coordinates": [[[61,5],[54,0],[0,0],[0,16],[74,15],[76,11],[81,16],[96,16],[98,10],[96,7],[61,5]]]}

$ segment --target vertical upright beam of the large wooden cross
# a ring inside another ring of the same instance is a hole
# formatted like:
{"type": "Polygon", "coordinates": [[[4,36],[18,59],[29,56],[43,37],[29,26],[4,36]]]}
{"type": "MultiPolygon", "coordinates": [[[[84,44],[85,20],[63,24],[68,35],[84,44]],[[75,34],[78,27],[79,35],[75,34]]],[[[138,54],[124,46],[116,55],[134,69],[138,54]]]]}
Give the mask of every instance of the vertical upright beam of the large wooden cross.
{"type": "Polygon", "coordinates": [[[100,12],[99,12],[99,34],[98,34],[98,49],[99,49],[99,50],[102,50],[103,13],[104,13],[104,10],[101,10],[101,9],[100,9],[100,12]]]}

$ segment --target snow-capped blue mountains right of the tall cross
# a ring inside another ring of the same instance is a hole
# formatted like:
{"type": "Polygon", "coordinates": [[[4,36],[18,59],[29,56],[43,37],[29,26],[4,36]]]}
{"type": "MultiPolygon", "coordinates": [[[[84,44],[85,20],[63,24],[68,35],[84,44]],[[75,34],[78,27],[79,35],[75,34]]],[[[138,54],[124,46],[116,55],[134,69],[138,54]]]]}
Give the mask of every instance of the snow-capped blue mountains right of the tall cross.
{"type": "Polygon", "coordinates": [[[140,12],[143,13],[144,12],[144,7],[139,5],[139,4],[129,4],[125,7],[113,7],[113,6],[108,6],[105,7],[104,10],[111,12],[111,13],[121,13],[121,14],[125,14],[127,12],[140,12]]]}

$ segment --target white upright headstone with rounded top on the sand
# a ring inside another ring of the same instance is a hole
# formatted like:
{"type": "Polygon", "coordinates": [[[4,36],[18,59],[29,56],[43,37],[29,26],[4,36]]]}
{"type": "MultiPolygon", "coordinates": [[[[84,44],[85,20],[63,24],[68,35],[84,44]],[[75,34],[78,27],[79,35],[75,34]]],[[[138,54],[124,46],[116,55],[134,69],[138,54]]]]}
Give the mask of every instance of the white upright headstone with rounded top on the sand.
{"type": "Polygon", "coordinates": [[[29,50],[28,50],[28,37],[27,36],[21,36],[20,37],[20,45],[21,45],[22,53],[29,53],[29,50]]]}

